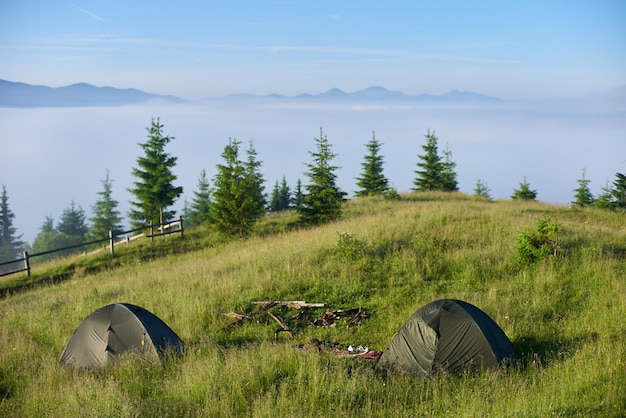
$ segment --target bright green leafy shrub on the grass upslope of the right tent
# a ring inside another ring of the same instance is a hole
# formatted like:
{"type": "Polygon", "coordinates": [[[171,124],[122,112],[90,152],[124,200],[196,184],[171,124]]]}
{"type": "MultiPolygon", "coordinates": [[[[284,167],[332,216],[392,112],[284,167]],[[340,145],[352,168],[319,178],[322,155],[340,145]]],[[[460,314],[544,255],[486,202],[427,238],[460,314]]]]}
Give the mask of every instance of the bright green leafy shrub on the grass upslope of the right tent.
{"type": "Polygon", "coordinates": [[[522,231],[517,236],[517,255],[524,261],[534,263],[549,256],[556,256],[559,249],[558,235],[563,226],[547,215],[537,221],[534,229],[522,231]]]}

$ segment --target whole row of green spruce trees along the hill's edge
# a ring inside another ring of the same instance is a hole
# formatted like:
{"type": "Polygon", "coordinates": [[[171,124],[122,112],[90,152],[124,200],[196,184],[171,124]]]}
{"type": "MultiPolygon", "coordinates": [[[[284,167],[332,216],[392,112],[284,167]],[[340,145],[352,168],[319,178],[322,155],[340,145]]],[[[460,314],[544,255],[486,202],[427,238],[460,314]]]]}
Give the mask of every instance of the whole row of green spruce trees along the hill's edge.
{"type": "MultiPolygon", "coordinates": [[[[180,198],[183,188],[175,184],[177,177],[173,170],[177,157],[166,151],[174,137],[166,135],[159,118],[152,119],[146,128],[147,140],[139,144],[143,154],[136,160],[132,169],[135,181],[128,191],[134,196],[130,202],[128,220],[133,229],[161,224],[173,219],[172,205],[180,198]]],[[[430,129],[425,134],[423,153],[418,154],[412,192],[419,191],[458,191],[456,163],[452,152],[447,148],[439,150],[439,138],[430,129]]],[[[286,178],[276,181],[271,192],[265,191],[262,175],[262,161],[259,160],[254,144],[247,149],[242,143],[230,138],[222,151],[223,162],[216,167],[216,174],[209,180],[206,170],[200,172],[193,200],[184,202],[182,210],[187,228],[207,226],[228,236],[244,237],[254,224],[268,212],[295,210],[299,222],[304,226],[331,222],[341,217],[342,204],[347,193],[337,184],[337,170],[333,165],[337,155],[320,128],[314,138],[315,148],[309,151],[311,160],[306,163],[307,182],[297,180],[292,190],[286,178]]],[[[384,174],[382,143],[372,138],[365,144],[366,154],[361,163],[361,174],[357,177],[355,192],[357,197],[382,195],[389,199],[399,199],[398,192],[390,186],[384,174]]],[[[608,180],[598,196],[589,188],[585,169],[582,178],[577,180],[574,200],[577,206],[594,206],[611,210],[626,210],[626,175],[616,173],[612,185],[608,180]]],[[[474,195],[491,200],[490,189],[484,180],[477,180],[474,195]]],[[[513,190],[513,200],[535,200],[537,191],[532,190],[524,177],[519,188],[513,190]]],[[[54,219],[46,217],[32,247],[21,240],[13,226],[14,214],[8,203],[6,188],[2,187],[0,197],[0,262],[19,258],[22,251],[35,253],[74,246],[108,237],[109,231],[121,232],[123,218],[118,210],[119,202],[113,198],[113,180],[107,170],[102,180],[102,190],[98,192],[92,206],[91,217],[87,219],[81,206],[71,202],[55,225],[54,219]]],[[[71,251],[71,250],[70,250],[71,251]]],[[[55,253],[55,256],[65,254],[55,253]]],[[[1,267],[0,267],[1,268],[1,267]]]]}

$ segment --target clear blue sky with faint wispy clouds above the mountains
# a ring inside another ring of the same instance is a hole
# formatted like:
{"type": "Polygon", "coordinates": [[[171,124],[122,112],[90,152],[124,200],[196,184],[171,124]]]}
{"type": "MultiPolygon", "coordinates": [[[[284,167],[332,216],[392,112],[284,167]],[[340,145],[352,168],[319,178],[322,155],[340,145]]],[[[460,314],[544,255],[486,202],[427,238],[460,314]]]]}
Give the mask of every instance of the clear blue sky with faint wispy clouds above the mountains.
{"type": "Polygon", "coordinates": [[[201,99],[626,84],[626,1],[0,0],[0,78],[201,99]]]}

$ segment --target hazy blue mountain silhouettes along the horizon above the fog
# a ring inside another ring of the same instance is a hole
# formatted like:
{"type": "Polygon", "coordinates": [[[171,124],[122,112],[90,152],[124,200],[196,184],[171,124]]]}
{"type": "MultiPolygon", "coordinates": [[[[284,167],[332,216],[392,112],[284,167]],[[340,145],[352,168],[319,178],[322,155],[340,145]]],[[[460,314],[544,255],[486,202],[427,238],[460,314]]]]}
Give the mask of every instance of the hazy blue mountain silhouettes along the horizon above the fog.
{"type": "MultiPolygon", "coordinates": [[[[583,100],[589,102],[597,99],[608,101],[620,107],[625,106],[626,86],[583,100]]],[[[48,87],[0,79],[0,107],[123,106],[150,101],[188,103],[187,100],[176,96],[146,93],[137,89],[96,87],[87,83],[48,87]]],[[[368,87],[352,93],[334,88],[319,94],[299,94],[296,96],[240,93],[210,98],[203,102],[498,103],[506,102],[506,100],[459,90],[451,90],[437,96],[431,94],[408,95],[401,91],[387,90],[384,87],[368,87]]]]}

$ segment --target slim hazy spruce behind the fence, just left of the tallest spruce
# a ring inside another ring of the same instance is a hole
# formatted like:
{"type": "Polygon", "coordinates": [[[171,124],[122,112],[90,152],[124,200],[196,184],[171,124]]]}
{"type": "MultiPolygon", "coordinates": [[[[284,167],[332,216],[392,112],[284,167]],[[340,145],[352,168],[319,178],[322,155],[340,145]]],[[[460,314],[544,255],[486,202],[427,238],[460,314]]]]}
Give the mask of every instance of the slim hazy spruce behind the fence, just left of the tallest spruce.
{"type": "Polygon", "coordinates": [[[109,170],[104,180],[102,180],[102,191],[98,192],[98,199],[91,207],[92,217],[89,219],[89,241],[96,241],[109,237],[109,231],[114,234],[122,231],[122,218],[117,210],[119,204],[113,199],[113,180],[109,178],[109,170]]]}

